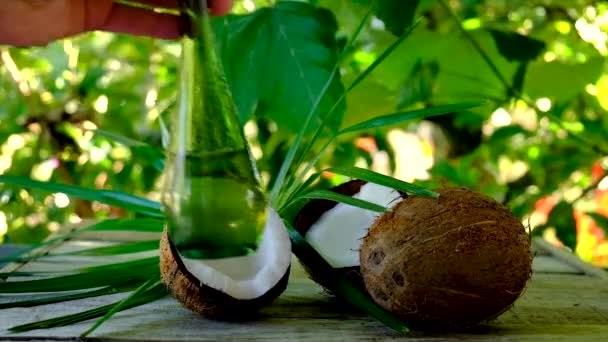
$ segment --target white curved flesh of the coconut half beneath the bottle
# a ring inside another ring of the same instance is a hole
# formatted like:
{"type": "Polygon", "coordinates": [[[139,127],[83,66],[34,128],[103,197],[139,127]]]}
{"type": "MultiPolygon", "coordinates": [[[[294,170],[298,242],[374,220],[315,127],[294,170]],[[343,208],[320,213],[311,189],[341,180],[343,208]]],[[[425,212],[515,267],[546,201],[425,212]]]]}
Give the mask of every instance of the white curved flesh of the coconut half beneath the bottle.
{"type": "Polygon", "coordinates": [[[279,215],[268,209],[262,240],[255,253],[233,258],[201,260],[183,257],[184,267],[201,285],[234,299],[263,296],[283,278],[291,263],[291,242],[279,215]]]}

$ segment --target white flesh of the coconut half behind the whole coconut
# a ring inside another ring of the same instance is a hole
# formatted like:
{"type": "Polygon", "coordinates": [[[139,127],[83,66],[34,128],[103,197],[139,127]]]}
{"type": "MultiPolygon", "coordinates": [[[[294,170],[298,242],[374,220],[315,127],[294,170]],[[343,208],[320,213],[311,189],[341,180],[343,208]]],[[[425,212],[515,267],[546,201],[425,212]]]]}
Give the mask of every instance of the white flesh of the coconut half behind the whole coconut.
{"type": "MultiPolygon", "coordinates": [[[[384,207],[401,201],[396,190],[374,183],[364,184],[352,197],[384,207]]],[[[359,247],[379,215],[381,213],[338,203],[321,215],[304,238],[332,267],[359,266],[359,247]]]]}

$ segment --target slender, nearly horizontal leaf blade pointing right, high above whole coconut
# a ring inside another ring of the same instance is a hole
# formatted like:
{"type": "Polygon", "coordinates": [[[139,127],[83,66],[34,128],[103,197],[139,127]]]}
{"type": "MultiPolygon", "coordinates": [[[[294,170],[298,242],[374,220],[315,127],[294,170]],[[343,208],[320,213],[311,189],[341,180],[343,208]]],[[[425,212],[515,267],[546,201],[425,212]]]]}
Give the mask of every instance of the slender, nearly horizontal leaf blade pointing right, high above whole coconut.
{"type": "Polygon", "coordinates": [[[418,119],[424,119],[424,118],[428,118],[428,117],[436,116],[436,115],[454,113],[454,112],[458,112],[461,110],[481,106],[484,103],[485,103],[485,101],[462,102],[462,103],[456,103],[456,104],[435,106],[435,107],[431,107],[431,108],[416,109],[416,110],[410,110],[410,111],[405,111],[405,112],[397,112],[397,113],[393,113],[393,114],[382,115],[382,116],[378,116],[378,117],[363,121],[361,123],[352,125],[350,127],[344,128],[339,132],[339,134],[364,131],[364,130],[372,129],[372,128],[395,125],[398,123],[402,123],[404,121],[418,120],[418,119]]]}

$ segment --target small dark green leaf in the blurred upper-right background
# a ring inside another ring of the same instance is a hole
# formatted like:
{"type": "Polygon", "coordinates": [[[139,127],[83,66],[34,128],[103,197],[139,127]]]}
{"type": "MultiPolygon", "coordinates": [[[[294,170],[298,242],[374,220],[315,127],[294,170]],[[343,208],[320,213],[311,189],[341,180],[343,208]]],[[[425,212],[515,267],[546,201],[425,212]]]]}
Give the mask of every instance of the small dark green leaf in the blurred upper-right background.
{"type": "Polygon", "coordinates": [[[517,32],[489,30],[501,55],[509,61],[529,61],[545,50],[545,42],[517,32]]]}

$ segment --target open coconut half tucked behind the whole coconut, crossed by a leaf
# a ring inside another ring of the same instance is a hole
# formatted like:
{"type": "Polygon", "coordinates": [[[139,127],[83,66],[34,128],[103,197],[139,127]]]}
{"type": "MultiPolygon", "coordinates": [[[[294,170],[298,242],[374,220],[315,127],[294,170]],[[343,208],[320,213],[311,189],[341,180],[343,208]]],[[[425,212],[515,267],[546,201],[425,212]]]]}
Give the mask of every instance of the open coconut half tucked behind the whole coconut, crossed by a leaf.
{"type": "MultiPolygon", "coordinates": [[[[401,200],[400,194],[394,189],[359,180],[345,183],[332,191],[384,207],[401,200]]],[[[353,267],[359,266],[361,242],[379,215],[344,203],[316,200],[302,209],[296,226],[306,241],[332,267],[353,267]]]]}

